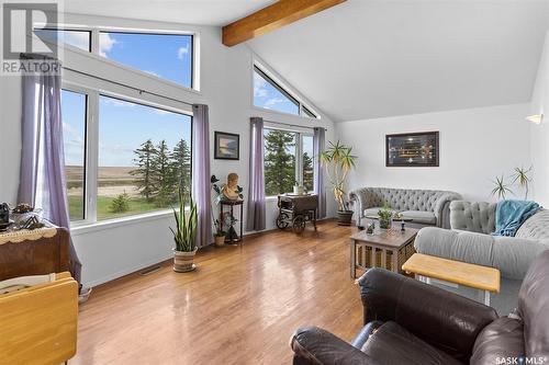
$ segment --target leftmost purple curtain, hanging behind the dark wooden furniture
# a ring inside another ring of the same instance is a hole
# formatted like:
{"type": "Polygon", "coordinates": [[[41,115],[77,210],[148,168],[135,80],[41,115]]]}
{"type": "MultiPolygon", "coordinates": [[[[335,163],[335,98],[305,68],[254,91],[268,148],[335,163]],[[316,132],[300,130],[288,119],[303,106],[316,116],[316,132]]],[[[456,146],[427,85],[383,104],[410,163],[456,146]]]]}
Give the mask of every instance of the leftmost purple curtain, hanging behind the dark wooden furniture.
{"type": "MultiPolygon", "coordinates": [[[[25,57],[30,57],[26,55],[25,57]]],[[[59,65],[60,69],[60,65],[59,65]]],[[[42,207],[44,217],[69,229],[60,106],[60,76],[23,77],[20,203],[42,207]]],[[[80,283],[82,264],[70,242],[70,273],[80,283]]]]}

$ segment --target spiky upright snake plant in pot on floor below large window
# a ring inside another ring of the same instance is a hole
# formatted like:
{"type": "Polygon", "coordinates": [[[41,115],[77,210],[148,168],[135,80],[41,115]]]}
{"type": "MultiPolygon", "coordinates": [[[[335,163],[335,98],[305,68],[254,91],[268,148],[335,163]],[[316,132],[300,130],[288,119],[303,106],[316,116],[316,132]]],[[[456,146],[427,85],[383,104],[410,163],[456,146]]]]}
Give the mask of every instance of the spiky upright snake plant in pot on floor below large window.
{"type": "Polygon", "coordinates": [[[178,191],[179,196],[179,210],[173,208],[173,216],[176,218],[176,229],[170,227],[173,233],[173,241],[176,248],[173,249],[173,271],[178,273],[186,273],[193,271],[194,254],[197,253],[197,246],[194,239],[197,238],[197,205],[189,196],[189,209],[187,210],[187,199],[181,186],[178,191]]]}

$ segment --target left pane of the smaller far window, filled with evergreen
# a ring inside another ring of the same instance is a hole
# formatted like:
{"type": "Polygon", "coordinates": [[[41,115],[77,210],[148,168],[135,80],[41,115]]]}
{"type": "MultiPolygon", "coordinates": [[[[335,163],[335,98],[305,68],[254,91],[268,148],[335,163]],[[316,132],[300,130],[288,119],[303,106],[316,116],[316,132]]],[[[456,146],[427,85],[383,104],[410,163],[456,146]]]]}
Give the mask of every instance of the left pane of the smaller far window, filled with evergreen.
{"type": "Polygon", "coordinates": [[[294,133],[265,129],[265,191],[268,196],[289,193],[293,190],[294,151],[294,133]]]}

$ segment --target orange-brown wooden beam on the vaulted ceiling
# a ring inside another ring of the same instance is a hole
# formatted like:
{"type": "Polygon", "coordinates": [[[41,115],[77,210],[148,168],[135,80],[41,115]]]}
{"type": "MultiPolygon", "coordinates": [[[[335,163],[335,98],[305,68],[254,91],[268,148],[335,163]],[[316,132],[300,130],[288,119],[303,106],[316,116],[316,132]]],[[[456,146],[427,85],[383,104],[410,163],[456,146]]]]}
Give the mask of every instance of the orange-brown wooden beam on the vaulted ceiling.
{"type": "Polygon", "coordinates": [[[232,47],[272,32],[300,19],[337,5],[346,0],[279,0],[223,27],[223,44],[232,47]]]}

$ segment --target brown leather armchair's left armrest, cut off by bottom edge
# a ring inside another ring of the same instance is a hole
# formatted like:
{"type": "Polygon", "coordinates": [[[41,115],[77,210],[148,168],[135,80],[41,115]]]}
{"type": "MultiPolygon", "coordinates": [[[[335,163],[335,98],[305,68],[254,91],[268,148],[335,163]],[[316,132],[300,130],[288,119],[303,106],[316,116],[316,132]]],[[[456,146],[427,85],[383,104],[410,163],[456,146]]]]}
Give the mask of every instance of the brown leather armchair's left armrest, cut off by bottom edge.
{"type": "Polygon", "coordinates": [[[294,365],[379,364],[338,337],[317,327],[295,331],[290,342],[294,365]]]}

